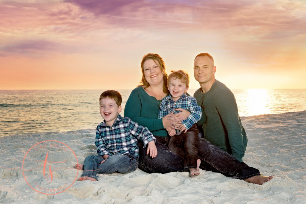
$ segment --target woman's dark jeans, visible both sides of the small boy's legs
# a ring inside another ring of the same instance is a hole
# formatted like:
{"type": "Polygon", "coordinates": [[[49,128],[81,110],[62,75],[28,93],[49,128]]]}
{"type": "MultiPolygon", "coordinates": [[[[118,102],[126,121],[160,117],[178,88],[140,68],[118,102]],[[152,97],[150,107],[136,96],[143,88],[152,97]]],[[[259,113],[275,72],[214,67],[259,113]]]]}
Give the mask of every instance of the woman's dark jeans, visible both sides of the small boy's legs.
{"type": "MultiPolygon", "coordinates": [[[[177,154],[169,151],[166,147],[169,138],[156,138],[157,156],[151,158],[147,155],[147,148],[143,148],[142,142],[139,146],[139,168],[148,173],[184,172],[183,160],[177,154]]],[[[211,144],[207,139],[198,137],[198,158],[201,160],[200,168],[206,171],[222,173],[224,176],[248,179],[260,175],[258,169],[244,165],[232,155],[211,144]]]]}

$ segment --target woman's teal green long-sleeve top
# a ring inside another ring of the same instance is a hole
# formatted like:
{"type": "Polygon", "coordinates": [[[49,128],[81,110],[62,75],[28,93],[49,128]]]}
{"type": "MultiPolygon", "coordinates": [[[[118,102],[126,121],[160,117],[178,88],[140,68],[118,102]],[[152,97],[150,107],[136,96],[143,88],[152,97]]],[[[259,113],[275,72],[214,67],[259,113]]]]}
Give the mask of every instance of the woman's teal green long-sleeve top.
{"type": "MultiPolygon", "coordinates": [[[[169,95],[169,94],[167,94],[169,95]]],[[[167,131],[158,119],[159,104],[155,97],[149,96],[143,87],[137,87],[131,92],[124,108],[124,116],[147,127],[155,136],[167,137],[167,131]]]]}

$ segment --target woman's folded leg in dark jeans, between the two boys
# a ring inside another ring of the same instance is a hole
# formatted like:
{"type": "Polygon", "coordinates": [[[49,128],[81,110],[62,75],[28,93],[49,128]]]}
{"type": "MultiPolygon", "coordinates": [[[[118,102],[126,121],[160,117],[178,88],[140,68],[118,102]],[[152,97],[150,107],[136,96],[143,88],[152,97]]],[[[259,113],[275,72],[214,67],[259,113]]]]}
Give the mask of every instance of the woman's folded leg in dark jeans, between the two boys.
{"type": "Polygon", "coordinates": [[[166,147],[168,143],[167,137],[155,136],[157,148],[157,156],[151,158],[147,155],[147,148],[143,148],[143,143],[138,141],[139,147],[139,166],[141,170],[147,173],[169,173],[169,172],[184,172],[184,164],[182,158],[177,154],[169,151],[166,147]]]}

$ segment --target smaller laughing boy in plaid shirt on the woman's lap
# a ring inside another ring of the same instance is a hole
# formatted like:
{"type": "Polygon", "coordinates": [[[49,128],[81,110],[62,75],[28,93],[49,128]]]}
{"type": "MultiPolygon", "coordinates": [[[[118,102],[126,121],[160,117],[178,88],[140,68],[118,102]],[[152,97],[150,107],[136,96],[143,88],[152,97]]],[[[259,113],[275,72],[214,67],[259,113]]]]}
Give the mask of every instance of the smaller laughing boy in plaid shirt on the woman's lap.
{"type": "Polygon", "coordinates": [[[170,95],[161,102],[159,118],[172,113],[172,111],[177,113],[178,111],[175,110],[177,108],[190,111],[191,114],[188,118],[182,121],[180,131],[172,128],[166,128],[166,130],[171,136],[168,144],[169,150],[180,153],[179,156],[184,158],[184,168],[189,169],[191,177],[195,177],[200,174],[199,166],[201,161],[197,159],[198,149],[196,148],[199,131],[195,123],[201,119],[201,108],[198,106],[195,98],[186,95],[189,88],[188,74],[182,70],[172,70],[171,72],[167,82],[170,95]],[[182,143],[184,144],[182,145],[182,143]],[[180,146],[185,148],[185,154],[181,152],[180,146]]]}

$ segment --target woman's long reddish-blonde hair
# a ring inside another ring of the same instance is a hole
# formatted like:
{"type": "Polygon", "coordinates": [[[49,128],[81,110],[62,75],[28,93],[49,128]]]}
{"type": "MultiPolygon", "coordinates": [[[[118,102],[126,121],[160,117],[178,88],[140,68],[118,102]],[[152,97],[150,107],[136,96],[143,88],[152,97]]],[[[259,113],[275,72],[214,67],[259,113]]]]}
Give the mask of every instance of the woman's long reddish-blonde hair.
{"type": "Polygon", "coordinates": [[[145,54],[144,57],[142,57],[141,60],[141,72],[142,72],[142,79],[140,81],[140,85],[139,86],[144,86],[145,88],[149,87],[150,84],[147,82],[146,77],[144,76],[144,62],[148,59],[152,59],[159,67],[159,69],[162,71],[162,73],[164,74],[163,80],[163,92],[164,93],[168,93],[168,87],[167,87],[167,78],[168,75],[166,73],[166,67],[165,67],[165,62],[162,60],[162,57],[160,57],[158,54],[154,54],[154,53],[148,53],[145,54]]]}

